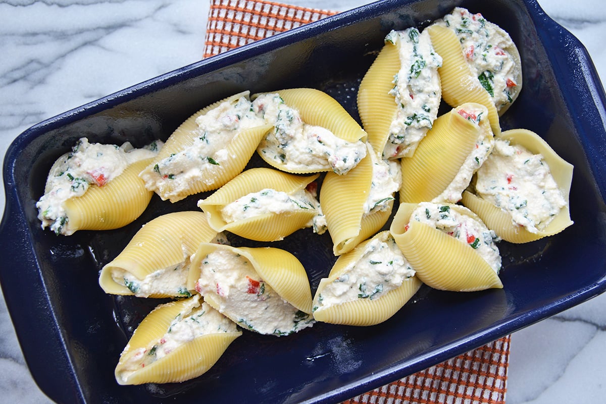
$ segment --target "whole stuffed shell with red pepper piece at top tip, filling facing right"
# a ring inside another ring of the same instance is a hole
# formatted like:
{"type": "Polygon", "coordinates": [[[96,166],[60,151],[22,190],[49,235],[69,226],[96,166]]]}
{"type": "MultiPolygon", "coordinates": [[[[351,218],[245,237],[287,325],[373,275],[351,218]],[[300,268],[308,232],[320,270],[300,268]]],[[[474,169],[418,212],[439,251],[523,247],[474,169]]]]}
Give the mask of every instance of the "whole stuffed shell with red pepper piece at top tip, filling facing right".
{"type": "Polygon", "coordinates": [[[438,117],[415,155],[402,158],[400,201],[456,203],[494,145],[487,108],[465,103],[438,117]]]}

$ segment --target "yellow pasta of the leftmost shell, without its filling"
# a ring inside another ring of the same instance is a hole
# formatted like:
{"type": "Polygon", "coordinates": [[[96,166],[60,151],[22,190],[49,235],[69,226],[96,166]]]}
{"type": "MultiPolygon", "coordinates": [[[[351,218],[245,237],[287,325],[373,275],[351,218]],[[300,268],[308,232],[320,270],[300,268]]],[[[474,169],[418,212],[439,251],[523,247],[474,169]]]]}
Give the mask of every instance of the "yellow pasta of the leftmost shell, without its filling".
{"type": "Polygon", "coordinates": [[[138,177],[149,161],[137,161],[104,186],[92,184],[81,197],[66,200],[63,205],[68,217],[66,233],[118,229],[138,218],[153,195],[138,177]]]}

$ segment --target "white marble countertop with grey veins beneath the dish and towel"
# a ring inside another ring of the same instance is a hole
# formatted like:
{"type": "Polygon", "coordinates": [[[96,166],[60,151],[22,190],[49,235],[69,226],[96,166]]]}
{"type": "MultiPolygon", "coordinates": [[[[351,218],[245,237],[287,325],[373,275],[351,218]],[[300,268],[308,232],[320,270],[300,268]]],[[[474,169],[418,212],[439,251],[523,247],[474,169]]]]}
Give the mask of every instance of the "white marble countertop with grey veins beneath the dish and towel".
{"type": "MultiPolygon", "coordinates": [[[[364,0],[290,0],[330,10],[364,0]]],[[[606,77],[602,0],[539,0],[606,77]]],[[[0,1],[0,155],[22,131],[68,109],[199,60],[207,0],[0,1]]],[[[0,208],[4,209],[4,193],[0,208]]],[[[606,397],[606,295],[513,334],[507,403],[606,397]]],[[[28,373],[0,299],[0,397],[49,403],[28,373]]]]}

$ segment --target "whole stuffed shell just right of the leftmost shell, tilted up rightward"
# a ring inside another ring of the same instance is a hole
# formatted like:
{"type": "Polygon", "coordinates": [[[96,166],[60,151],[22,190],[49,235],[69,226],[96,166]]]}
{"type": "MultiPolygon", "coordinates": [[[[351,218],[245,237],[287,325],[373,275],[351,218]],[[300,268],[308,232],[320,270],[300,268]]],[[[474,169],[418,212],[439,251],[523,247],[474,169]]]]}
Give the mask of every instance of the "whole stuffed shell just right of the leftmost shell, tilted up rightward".
{"type": "Polygon", "coordinates": [[[228,97],[185,120],[140,177],[171,202],[217,189],[240,174],[270,128],[248,91],[228,97]]]}

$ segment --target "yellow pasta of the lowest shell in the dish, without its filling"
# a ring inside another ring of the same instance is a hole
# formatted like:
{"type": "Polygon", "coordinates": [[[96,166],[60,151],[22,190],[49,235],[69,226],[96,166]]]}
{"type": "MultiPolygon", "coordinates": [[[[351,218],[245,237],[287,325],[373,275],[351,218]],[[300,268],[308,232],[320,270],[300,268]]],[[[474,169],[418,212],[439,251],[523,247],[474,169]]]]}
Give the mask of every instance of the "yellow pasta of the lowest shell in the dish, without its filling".
{"type": "MultiPolygon", "coordinates": [[[[167,330],[175,318],[179,315],[185,316],[199,306],[199,295],[195,295],[190,299],[159,305],[151,311],[136,328],[122,352],[115,370],[116,381],[121,385],[183,382],[210,369],[228,345],[242,334],[235,325],[227,331],[216,330],[216,327],[206,330],[207,333],[179,345],[166,356],[147,365],[142,363],[144,366],[136,369],[129,363],[137,362],[135,356],[141,354],[141,349],[145,350],[143,355],[151,353],[150,349],[155,350],[154,344],[158,344],[158,341],[167,335],[167,330]]],[[[221,316],[206,305],[202,316],[208,315],[221,316]]]]}

